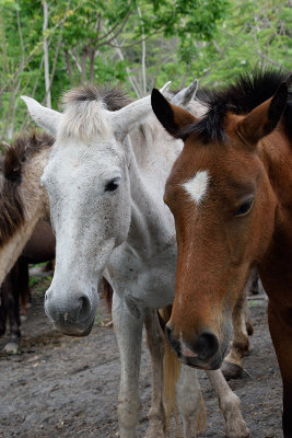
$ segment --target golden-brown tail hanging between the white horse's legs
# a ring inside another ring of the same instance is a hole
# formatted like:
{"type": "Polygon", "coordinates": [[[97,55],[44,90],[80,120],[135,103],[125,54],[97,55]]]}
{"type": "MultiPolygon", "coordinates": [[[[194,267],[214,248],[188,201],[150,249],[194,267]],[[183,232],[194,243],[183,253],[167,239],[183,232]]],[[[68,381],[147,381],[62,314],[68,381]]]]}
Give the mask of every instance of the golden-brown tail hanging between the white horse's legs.
{"type": "MultiPolygon", "coordinates": [[[[159,318],[163,333],[165,334],[165,325],[172,314],[172,306],[160,309],[159,318]]],[[[180,361],[178,360],[174,349],[164,335],[164,361],[163,361],[163,383],[164,383],[164,402],[166,405],[166,428],[170,426],[171,415],[174,412],[177,436],[182,435],[178,420],[178,412],[175,404],[175,385],[180,372],[180,361]]],[[[206,429],[207,411],[201,394],[201,408],[197,418],[197,433],[201,434],[206,429]]]]}

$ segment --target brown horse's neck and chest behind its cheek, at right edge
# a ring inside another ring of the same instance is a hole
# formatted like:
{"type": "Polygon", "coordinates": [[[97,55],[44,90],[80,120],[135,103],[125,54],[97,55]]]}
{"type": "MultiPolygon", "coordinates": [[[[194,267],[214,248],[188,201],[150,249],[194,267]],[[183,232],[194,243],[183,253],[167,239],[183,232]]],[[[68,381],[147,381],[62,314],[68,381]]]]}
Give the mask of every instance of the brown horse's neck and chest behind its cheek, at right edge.
{"type": "Polygon", "coordinates": [[[279,126],[261,141],[259,153],[276,195],[275,230],[260,277],[270,299],[292,307],[292,139],[279,126]]]}

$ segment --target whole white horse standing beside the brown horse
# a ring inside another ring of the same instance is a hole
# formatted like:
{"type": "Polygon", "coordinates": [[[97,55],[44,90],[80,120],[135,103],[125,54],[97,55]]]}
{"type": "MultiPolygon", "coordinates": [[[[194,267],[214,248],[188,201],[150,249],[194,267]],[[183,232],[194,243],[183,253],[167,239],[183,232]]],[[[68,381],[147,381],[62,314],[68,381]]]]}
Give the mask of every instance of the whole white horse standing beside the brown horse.
{"type": "MultiPolygon", "coordinates": [[[[175,97],[187,104],[195,85],[175,97]]],[[[176,237],[163,203],[166,177],[182,150],[151,114],[150,97],[125,107],[119,96],[97,89],[72,90],[65,112],[24,97],[33,119],[56,142],[42,183],[56,232],[56,267],[45,309],[57,330],[86,335],[94,322],[104,275],[114,290],[113,321],[121,361],[118,418],[121,438],[137,437],[138,379],[142,327],[152,356],[152,406],[148,438],[165,436],[162,397],[163,345],[155,310],[173,302],[176,237]]],[[[125,104],[125,102],[124,102],[125,104]]],[[[208,371],[226,420],[229,437],[247,437],[238,397],[220,370],[208,371]]],[[[186,438],[201,396],[196,370],[183,366],[177,404],[186,438]]]]}

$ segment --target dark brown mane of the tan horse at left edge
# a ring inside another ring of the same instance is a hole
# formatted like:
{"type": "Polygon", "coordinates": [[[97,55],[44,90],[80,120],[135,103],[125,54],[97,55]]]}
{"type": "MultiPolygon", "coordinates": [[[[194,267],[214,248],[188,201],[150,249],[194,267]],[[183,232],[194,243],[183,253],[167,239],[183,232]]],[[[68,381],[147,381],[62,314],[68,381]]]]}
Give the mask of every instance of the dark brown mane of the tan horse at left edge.
{"type": "Polygon", "coordinates": [[[25,219],[24,201],[20,193],[23,165],[43,149],[54,143],[45,132],[20,134],[7,148],[0,162],[0,246],[5,244],[25,219]]]}

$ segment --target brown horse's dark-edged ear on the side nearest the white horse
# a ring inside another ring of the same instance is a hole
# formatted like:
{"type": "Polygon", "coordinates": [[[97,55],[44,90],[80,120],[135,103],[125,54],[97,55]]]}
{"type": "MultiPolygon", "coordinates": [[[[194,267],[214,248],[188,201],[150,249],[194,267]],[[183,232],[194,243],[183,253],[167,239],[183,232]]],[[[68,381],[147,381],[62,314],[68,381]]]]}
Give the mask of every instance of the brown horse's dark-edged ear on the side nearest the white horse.
{"type": "Polygon", "coordinates": [[[179,134],[182,128],[194,124],[196,120],[196,117],[188,111],[168,103],[156,89],[152,90],[151,105],[162,126],[176,138],[183,138],[183,135],[179,134]]]}

